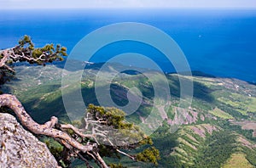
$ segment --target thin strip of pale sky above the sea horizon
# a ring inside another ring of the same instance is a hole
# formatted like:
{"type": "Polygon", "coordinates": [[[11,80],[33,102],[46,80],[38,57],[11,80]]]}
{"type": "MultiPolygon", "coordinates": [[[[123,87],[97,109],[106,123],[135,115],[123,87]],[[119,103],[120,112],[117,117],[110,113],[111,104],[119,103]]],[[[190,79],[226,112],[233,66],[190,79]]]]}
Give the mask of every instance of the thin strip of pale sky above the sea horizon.
{"type": "Polygon", "coordinates": [[[0,0],[0,8],[256,8],[256,0],[0,0]]]}

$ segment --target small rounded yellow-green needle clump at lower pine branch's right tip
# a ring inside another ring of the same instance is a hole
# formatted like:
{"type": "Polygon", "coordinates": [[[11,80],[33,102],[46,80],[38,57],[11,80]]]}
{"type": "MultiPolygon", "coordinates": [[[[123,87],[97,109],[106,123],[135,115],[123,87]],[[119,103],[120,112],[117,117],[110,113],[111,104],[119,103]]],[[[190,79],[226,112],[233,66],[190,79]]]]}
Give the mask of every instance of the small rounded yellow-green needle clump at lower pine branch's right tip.
{"type": "Polygon", "coordinates": [[[160,153],[157,148],[150,147],[143,150],[143,152],[136,154],[138,161],[151,162],[158,165],[157,160],[160,160],[160,153]]]}

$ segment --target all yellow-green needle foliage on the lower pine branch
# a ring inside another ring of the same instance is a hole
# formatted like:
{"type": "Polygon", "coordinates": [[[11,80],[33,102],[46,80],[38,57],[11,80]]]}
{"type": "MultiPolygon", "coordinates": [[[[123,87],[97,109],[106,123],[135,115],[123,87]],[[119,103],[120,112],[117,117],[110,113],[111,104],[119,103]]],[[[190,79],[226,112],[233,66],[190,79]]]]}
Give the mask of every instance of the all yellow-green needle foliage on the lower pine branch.
{"type": "MultiPolygon", "coordinates": [[[[134,148],[143,147],[144,145],[153,145],[153,141],[150,137],[146,136],[143,132],[140,131],[138,126],[131,124],[125,120],[125,112],[116,109],[116,108],[104,108],[101,106],[95,106],[93,104],[89,104],[87,107],[87,114],[91,115],[91,118],[94,120],[106,121],[102,123],[102,125],[113,126],[115,129],[119,129],[119,131],[131,138],[138,140],[137,143],[129,143],[129,138],[127,138],[128,143],[124,143],[125,146],[108,146],[108,145],[100,145],[100,152],[103,156],[108,157],[117,157],[120,158],[119,154],[117,154],[117,149],[125,149],[130,150],[134,148]]],[[[91,120],[91,119],[90,119],[91,120]]],[[[84,123],[85,124],[85,123],[84,123]]],[[[116,135],[115,135],[116,136],[116,135]]],[[[118,138],[118,137],[116,137],[118,138]]],[[[122,137],[123,138],[123,137],[122,137]]],[[[126,137],[125,137],[126,139],[126,137]]],[[[136,159],[139,161],[150,162],[157,165],[157,160],[160,160],[160,152],[157,148],[149,147],[143,150],[143,152],[136,154],[136,159]]],[[[112,165],[119,166],[119,165],[112,165]]]]}

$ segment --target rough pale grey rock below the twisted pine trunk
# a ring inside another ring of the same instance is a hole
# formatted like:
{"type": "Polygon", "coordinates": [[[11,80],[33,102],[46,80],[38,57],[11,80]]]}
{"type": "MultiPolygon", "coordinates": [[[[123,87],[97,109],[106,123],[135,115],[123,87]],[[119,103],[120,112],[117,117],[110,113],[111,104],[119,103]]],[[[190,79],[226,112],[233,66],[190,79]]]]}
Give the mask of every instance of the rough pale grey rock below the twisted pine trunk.
{"type": "Polygon", "coordinates": [[[47,146],[13,115],[0,113],[0,167],[58,167],[47,146]]]}

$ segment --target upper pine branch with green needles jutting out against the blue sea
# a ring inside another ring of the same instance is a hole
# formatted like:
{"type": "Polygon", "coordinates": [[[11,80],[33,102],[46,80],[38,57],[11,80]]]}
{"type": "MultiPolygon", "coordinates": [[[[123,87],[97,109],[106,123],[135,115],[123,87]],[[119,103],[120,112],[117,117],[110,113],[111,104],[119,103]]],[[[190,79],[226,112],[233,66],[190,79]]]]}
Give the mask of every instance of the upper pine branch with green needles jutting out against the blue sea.
{"type": "Polygon", "coordinates": [[[35,48],[30,36],[23,36],[19,44],[14,48],[5,49],[7,54],[1,53],[0,59],[5,57],[0,67],[0,85],[13,78],[15,70],[12,70],[16,62],[28,62],[29,64],[46,64],[53,61],[62,61],[63,56],[67,56],[67,48],[61,45],[47,44],[43,48],[35,48]]]}

